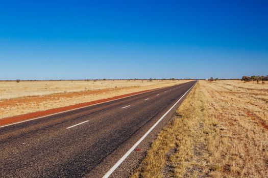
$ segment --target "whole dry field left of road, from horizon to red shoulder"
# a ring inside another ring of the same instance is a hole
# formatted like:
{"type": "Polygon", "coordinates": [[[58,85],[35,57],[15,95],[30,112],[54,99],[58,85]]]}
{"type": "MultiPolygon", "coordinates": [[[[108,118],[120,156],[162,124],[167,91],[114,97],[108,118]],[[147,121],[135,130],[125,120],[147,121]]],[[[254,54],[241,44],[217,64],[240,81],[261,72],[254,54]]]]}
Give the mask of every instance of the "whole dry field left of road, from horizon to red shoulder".
{"type": "Polygon", "coordinates": [[[0,81],[0,118],[111,98],[189,80],[0,81]]]}

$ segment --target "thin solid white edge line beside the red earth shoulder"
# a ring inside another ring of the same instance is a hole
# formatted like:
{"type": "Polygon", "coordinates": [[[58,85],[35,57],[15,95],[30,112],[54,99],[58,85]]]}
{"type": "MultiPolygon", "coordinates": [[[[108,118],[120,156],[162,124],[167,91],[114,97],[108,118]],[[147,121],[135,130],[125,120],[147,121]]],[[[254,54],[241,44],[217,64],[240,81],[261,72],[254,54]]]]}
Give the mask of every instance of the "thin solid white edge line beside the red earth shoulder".
{"type": "MultiPolygon", "coordinates": [[[[167,86],[167,87],[171,87],[171,86],[167,86]]],[[[163,87],[163,88],[165,88],[165,87],[163,87]]],[[[148,92],[153,92],[153,91],[161,90],[163,88],[154,89],[154,90],[148,91],[148,92]]],[[[139,94],[134,94],[134,95],[130,95],[130,96],[123,97],[123,98],[128,98],[128,97],[132,97],[132,96],[135,96],[135,95],[140,95],[140,94],[144,94],[144,93],[148,93],[148,92],[142,92],[142,93],[139,93],[139,94]]],[[[47,117],[47,116],[61,114],[61,113],[68,112],[68,111],[74,111],[74,110],[77,110],[77,109],[82,109],[82,108],[94,106],[94,105],[97,105],[97,104],[108,103],[108,102],[120,100],[120,99],[123,99],[123,98],[117,98],[117,99],[110,100],[110,101],[104,101],[102,103],[91,104],[91,105],[88,105],[88,106],[83,106],[83,107],[79,107],[79,108],[75,108],[75,109],[70,109],[70,110],[66,110],[66,111],[62,111],[62,112],[56,112],[56,113],[53,113],[53,114],[48,114],[48,115],[44,115],[44,116],[40,116],[40,117],[36,117],[36,118],[31,118],[30,120],[25,120],[25,121],[20,121],[20,122],[17,122],[17,123],[12,123],[12,124],[8,124],[8,125],[0,126],[0,128],[7,127],[7,126],[12,126],[12,125],[15,125],[15,124],[20,124],[20,123],[25,123],[25,122],[28,122],[28,121],[33,121],[33,120],[37,120],[38,118],[43,118],[43,117],[47,117]]]]}

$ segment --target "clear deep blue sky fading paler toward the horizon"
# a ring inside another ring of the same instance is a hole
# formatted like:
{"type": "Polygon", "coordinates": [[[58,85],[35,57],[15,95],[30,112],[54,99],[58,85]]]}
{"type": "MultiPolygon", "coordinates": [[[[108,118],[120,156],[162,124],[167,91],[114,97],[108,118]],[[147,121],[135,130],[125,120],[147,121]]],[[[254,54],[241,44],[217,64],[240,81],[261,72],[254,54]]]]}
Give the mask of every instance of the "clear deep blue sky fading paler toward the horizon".
{"type": "Polygon", "coordinates": [[[268,1],[0,1],[0,79],[268,75],[268,1]]]}

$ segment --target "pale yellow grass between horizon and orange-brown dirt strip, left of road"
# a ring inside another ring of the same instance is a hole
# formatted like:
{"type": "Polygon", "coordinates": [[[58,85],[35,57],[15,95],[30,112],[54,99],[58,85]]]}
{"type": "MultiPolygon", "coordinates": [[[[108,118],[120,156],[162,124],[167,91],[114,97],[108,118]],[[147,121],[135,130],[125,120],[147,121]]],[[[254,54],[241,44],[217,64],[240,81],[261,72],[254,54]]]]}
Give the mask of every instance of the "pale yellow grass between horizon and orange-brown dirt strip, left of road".
{"type": "Polygon", "coordinates": [[[72,80],[72,81],[0,81],[0,100],[28,96],[43,96],[55,93],[81,92],[88,90],[102,90],[114,87],[146,87],[155,85],[169,85],[174,81],[153,80],[72,80]]]}

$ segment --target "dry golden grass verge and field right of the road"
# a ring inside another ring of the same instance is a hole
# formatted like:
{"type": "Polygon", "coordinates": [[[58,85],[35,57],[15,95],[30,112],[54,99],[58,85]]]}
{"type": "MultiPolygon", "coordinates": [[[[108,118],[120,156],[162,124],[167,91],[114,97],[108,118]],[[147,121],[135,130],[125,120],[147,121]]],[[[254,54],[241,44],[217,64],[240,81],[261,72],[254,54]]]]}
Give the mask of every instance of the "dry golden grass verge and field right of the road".
{"type": "Polygon", "coordinates": [[[134,177],[267,177],[268,85],[199,81],[134,177]]]}

